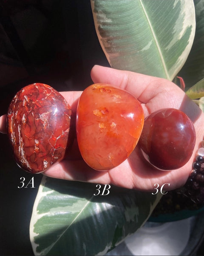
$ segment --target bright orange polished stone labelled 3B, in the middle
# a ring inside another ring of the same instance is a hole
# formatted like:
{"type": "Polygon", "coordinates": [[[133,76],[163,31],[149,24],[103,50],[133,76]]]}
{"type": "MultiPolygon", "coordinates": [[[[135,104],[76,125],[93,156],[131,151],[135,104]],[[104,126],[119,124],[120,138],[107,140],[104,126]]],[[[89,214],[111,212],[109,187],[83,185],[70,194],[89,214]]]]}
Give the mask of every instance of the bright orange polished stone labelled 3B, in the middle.
{"type": "Polygon", "coordinates": [[[139,101],[108,84],[87,87],[77,107],[77,141],[85,162],[96,170],[122,163],[138,143],[144,124],[139,101]]]}

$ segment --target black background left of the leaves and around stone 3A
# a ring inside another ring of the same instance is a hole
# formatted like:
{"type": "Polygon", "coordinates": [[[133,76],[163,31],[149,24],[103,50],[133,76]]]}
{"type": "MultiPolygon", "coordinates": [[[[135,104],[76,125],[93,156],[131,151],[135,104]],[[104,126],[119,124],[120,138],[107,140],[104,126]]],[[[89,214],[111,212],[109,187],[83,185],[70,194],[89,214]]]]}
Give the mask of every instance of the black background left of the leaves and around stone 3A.
{"type": "MultiPolygon", "coordinates": [[[[0,0],[0,115],[31,83],[84,90],[92,84],[94,64],[109,66],[90,0],[0,0]]],[[[29,223],[41,177],[16,165],[6,134],[0,134],[0,255],[33,255],[29,223]],[[18,188],[21,177],[27,188],[18,188]],[[35,188],[28,184],[32,177],[35,188]]],[[[197,255],[203,251],[201,245],[197,255]]]]}

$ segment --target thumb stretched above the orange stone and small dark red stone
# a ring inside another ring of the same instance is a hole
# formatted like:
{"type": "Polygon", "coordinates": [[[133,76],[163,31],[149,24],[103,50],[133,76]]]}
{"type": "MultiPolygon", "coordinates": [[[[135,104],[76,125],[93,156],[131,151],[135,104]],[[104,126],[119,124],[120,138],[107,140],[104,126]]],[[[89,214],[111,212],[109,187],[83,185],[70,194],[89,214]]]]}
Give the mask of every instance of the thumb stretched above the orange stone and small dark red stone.
{"type": "Polygon", "coordinates": [[[94,83],[108,83],[127,90],[141,103],[144,116],[161,108],[176,108],[194,122],[201,114],[198,106],[171,81],[109,67],[94,66],[91,70],[94,83]]]}

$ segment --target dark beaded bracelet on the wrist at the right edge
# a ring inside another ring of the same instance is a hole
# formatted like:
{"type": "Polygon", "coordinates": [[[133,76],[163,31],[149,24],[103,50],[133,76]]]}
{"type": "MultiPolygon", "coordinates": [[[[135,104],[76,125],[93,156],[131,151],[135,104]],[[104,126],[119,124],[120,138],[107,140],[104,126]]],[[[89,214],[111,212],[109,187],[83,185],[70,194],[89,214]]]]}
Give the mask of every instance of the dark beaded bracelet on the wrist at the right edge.
{"type": "Polygon", "coordinates": [[[177,190],[177,193],[190,197],[196,204],[204,204],[204,140],[197,154],[187,182],[177,190]]]}

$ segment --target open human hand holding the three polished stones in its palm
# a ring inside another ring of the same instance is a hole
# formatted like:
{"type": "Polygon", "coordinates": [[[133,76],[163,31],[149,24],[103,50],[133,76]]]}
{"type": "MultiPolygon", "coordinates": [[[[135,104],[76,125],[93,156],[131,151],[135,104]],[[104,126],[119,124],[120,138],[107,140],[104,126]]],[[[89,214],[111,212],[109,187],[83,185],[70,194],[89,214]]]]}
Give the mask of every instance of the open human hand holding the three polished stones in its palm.
{"type": "MultiPolygon", "coordinates": [[[[79,152],[77,138],[75,138],[71,151],[65,159],[43,172],[43,174],[65,180],[109,183],[129,189],[147,191],[153,190],[155,183],[160,186],[164,183],[170,183],[167,189],[176,189],[182,186],[191,172],[196,151],[204,136],[202,128],[204,113],[200,108],[176,84],[166,79],[101,66],[93,67],[91,78],[94,83],[112,84],[133,94],[141,102],[145,117],[162,108],[176,108],[186,113],[193,121],[196,131],[193,155],[180,169],[160,171],[144,160],[140,148],[136,146],[132,154],[122,164],[111,170],[100,172],[91,169],[84,162],[79,152]]],[[[78,91],[61,93],[71,105],[74,114],[76,114],[81,93],[78,91]]],[[[5,115],[0,117],[0,131],[6,131],[5,115]]]]}

